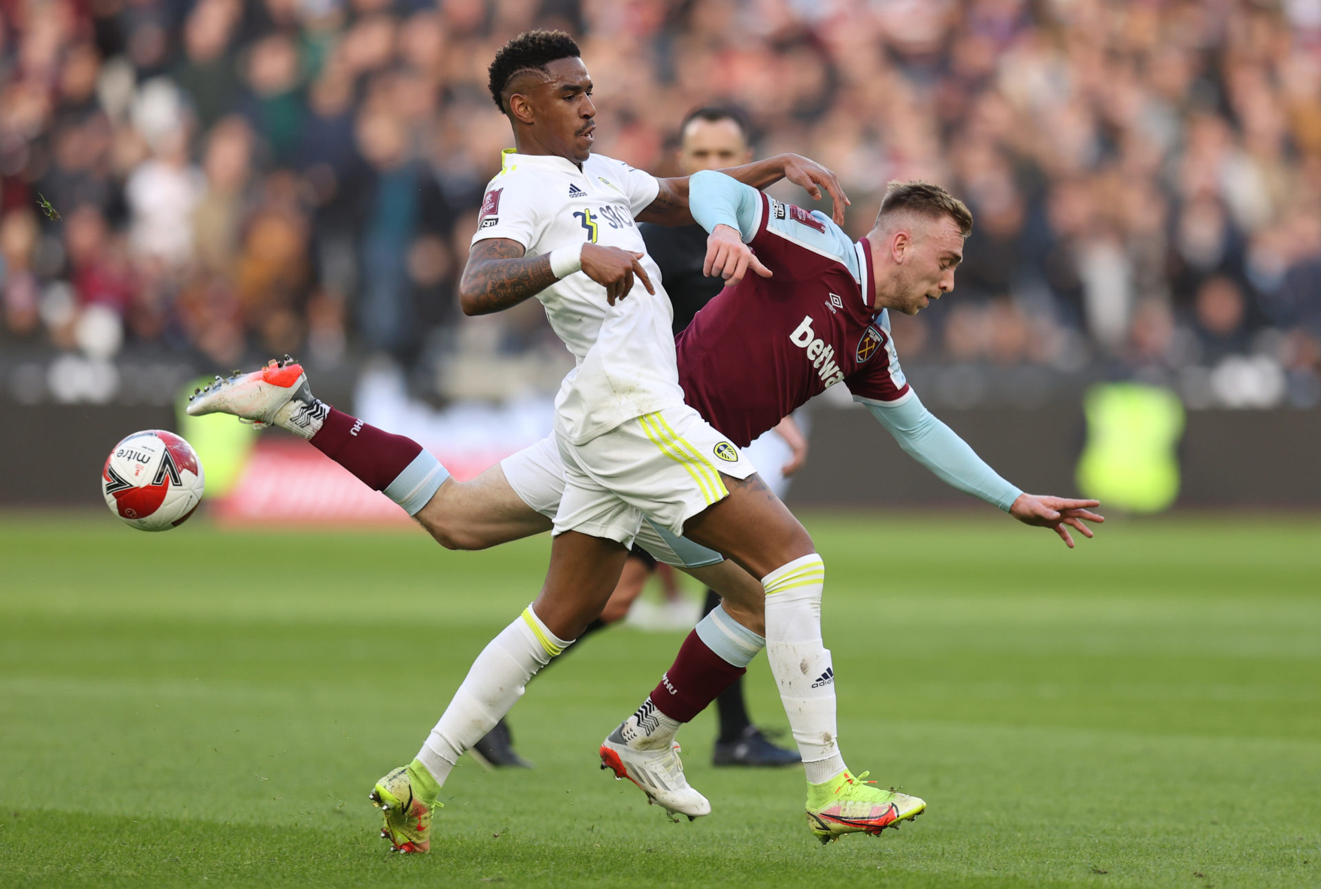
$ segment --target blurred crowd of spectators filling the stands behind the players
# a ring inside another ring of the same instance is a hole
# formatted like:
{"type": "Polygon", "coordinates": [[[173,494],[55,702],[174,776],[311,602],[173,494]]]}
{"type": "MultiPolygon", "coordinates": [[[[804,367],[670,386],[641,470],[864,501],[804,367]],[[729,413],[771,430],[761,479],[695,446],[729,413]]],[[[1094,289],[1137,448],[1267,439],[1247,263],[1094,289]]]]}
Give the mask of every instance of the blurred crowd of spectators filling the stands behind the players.
{"type": "Polygon", "coordinates": [[[579,38],[602,153],[666,174],[734,103],[855,235],[888,180],[963,197],[906,363],[1321,396],[1318,0],[0,0],[0,345],[553,388],[535,302],[454,299],[511,143],[486,66],[534,26],[579,38]]]}

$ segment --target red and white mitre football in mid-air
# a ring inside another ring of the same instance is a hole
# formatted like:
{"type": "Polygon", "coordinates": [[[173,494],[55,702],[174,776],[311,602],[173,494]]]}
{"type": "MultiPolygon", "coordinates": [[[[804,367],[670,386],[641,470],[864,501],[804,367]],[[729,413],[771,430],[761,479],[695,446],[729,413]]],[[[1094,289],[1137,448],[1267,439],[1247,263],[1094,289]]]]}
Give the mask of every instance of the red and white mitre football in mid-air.
{"type": "Polygon", "coordinates": [[[120,441],[100,472],[110,511],[139,531],[169,531],[186,522],[202,502],[203,487],[197,452],[162,429],[120,441]]]}

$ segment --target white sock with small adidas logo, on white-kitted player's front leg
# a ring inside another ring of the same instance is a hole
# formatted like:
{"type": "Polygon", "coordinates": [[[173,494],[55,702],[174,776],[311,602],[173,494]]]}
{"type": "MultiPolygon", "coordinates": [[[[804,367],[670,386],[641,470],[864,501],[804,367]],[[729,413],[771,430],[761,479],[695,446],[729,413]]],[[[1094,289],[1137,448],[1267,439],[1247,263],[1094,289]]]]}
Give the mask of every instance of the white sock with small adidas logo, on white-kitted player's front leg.
{"type": "Polygon", "coordinates": [[[808,783],[844,770],[835,729],[835,668],[822,642],[826,563],[794,559],[761,579],[766,588],[766,659],[803,757],[808,783]]]}

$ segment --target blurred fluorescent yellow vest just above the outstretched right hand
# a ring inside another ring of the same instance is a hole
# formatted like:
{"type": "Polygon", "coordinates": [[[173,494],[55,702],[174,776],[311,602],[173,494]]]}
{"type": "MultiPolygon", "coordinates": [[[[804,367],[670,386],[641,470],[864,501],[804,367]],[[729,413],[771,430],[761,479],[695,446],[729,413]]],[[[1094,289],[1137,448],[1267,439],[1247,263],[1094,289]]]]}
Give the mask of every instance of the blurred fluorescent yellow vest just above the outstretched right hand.
{"type": "Polygon", "coordinates": [[[1087,446],[1078,489],[1107,507],[1161,513],[1178,497],[1184,406],[1168,388],[1098,383],[1083,399],[1087,446]]]}

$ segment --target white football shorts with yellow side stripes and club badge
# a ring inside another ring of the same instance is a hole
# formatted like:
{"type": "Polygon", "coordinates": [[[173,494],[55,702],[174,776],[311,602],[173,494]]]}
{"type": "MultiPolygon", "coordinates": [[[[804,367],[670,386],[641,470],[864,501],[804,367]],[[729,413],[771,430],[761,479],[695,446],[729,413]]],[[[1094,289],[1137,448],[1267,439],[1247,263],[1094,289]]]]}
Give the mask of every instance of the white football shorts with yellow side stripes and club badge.
{"type": "Polygon", "coordinates": [[[626,420],[573,445],[556,436],[564,497],[553,534],[579,531],[631,546],[643,516],[683,534],[683,523],[729,491],[720,476],[756,470],[729,439],[687,404],[626,420]]]}

